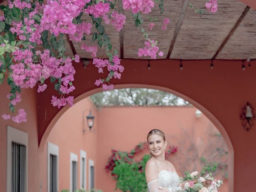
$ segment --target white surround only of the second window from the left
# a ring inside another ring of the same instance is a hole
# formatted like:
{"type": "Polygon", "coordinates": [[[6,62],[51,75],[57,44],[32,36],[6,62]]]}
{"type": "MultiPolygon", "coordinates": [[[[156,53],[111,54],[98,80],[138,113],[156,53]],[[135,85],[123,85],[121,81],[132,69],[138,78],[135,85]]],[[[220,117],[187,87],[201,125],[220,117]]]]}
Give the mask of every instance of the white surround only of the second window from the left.
{"type": "Polygon", "coordinates": [[[50,192],[50,155],[57,156],[57,191],[59,190],[59,146],[47,142],[47,191],[50,192]]]}

